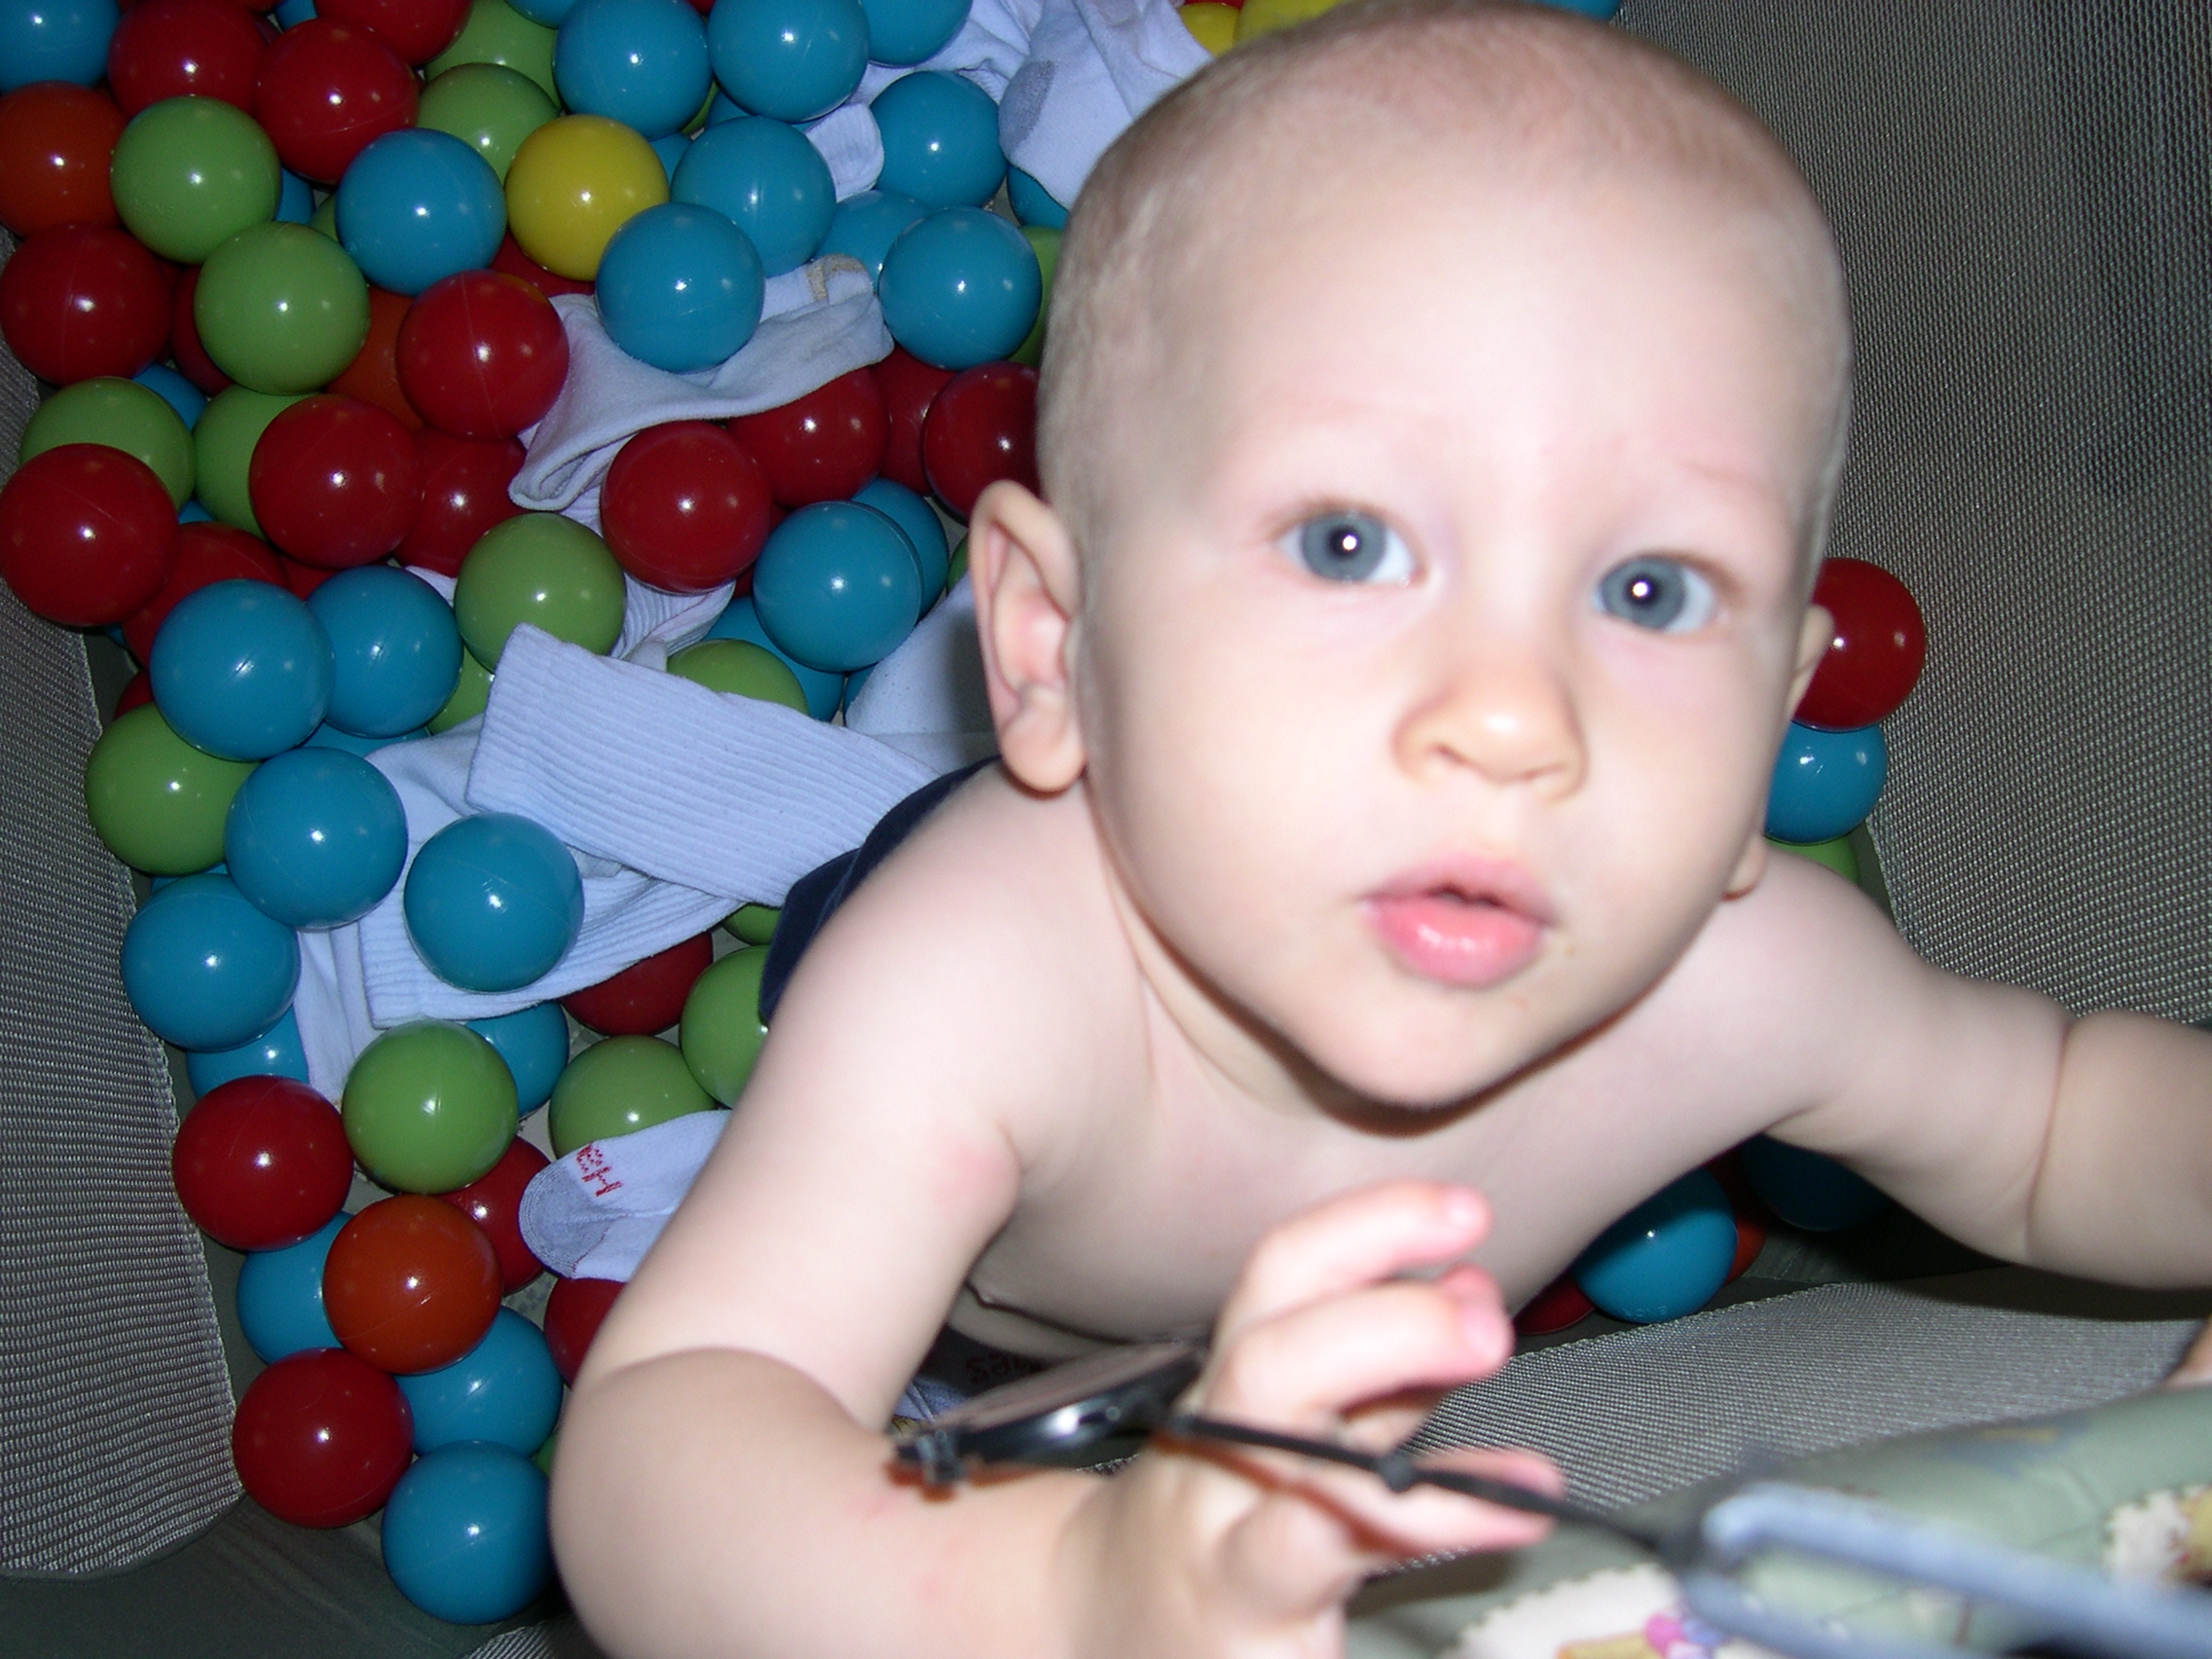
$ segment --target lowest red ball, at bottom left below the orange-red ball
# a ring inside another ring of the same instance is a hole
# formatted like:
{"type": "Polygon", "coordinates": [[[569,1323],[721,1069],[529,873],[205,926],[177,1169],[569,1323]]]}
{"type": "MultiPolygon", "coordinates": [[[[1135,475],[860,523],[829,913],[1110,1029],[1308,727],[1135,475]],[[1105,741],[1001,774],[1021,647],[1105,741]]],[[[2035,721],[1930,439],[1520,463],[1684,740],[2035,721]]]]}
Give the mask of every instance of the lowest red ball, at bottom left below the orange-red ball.
{"type": "Polygon", "coordinates": [[[294,1526],[352,1526],[407,1473],[414,1411],[400,1385],[341,1347],[268,1367],[239,1400],[230,1458],[261,1509],[294,1526]]]}

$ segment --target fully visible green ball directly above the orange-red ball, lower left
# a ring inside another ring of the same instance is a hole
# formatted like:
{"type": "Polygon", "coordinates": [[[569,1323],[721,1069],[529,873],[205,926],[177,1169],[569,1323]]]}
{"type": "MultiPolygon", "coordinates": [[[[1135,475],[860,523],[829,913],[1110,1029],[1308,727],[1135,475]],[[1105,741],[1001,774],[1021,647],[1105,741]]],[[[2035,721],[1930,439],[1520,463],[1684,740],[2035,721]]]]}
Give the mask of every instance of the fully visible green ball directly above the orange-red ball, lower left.
{"type": "Polygon", "coordinates": [[[394,1192],[451,1192],[515,1139],[515,1077],[469,1026],[416,1020],[361,1051],[338,1110],[369,1179],[394,1192]]]}

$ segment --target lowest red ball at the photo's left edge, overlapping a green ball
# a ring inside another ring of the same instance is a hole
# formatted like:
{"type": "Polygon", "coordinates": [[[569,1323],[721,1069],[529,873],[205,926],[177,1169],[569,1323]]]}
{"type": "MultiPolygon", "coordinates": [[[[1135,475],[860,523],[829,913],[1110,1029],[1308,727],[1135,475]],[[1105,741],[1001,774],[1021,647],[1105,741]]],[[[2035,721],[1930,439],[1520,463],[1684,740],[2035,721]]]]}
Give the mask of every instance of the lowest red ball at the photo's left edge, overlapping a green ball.
{"type": "Polygon", "coordinates": [[[0,489],[0,580],[64,628],[106,628],[146,604],[175,540],[168,489],[122,449],[60,445],[0,489]]]}

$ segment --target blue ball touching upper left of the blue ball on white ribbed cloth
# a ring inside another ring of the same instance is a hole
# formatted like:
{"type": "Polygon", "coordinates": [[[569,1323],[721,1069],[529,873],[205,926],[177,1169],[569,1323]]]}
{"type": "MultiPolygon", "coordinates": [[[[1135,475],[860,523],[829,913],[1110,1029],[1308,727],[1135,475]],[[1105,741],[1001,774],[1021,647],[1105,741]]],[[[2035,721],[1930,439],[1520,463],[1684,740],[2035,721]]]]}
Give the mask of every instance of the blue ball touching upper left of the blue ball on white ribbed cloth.
{"type": "Polygon", "coordinates": [[[257,765],[230,796],[223,863],[263,916],[285,927],[345,927],[400,878],[407,812],[358,754],[296,748],[257,765]]]}

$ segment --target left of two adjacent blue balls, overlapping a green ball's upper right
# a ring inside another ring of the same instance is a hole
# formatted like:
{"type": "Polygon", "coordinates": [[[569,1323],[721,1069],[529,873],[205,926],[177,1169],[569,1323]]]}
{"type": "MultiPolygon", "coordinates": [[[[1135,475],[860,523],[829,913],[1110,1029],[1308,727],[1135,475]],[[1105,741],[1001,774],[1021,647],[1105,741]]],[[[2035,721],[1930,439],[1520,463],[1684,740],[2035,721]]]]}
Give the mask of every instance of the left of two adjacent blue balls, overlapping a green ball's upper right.
{"type": "Polygon", "coordinates": [[[212,582],[168,613],[148,675],[161,719],[186,743],[265,761],[323,723],[330,637],[303,599],[270,582],[212,582]]]}

